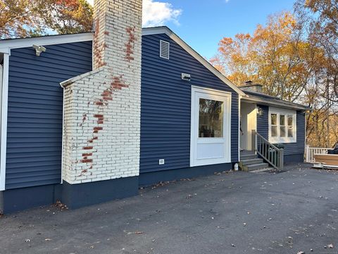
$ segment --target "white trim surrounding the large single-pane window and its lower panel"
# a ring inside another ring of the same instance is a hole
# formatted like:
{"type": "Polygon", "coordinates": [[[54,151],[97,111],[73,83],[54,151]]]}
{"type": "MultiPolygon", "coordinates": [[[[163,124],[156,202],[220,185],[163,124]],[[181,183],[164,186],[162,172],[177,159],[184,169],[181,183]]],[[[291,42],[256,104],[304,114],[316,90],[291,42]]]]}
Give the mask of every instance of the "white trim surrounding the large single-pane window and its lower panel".
{"type": "Polygon", "coordinates": [[[225,92],[221,90],[215,90],[211,88],[192,86],[192,107],[191,107],[191,126],[190,126],[190,167],[221,164],[231,162],[231,92],[225,92]],[[223,99],[224,115],[223,115],[223,138],[210,138],[204,139],[198,138],[199,136],[199,114],[196,114],[196,110],[199,110],[199,101],[196,97],[199,95],[205,95],[206,99],[223,99]],[[222,158],[208,158],[197,159],[197,144],[201,143],[221,143],[223,140],[224,156],[222,158]]]}

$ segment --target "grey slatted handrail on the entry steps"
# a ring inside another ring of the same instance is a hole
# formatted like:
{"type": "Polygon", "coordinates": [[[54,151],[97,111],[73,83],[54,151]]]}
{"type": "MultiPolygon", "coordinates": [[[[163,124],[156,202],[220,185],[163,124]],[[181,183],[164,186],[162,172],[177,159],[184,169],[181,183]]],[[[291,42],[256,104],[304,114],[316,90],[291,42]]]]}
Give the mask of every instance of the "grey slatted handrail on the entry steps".
{"type": "Polygon", "coordinates": [[[262,135],[255,130],[252,131],[252,150],[256,151],[258,155],[261,155],[268,164],[275,169],[283,169],[284,167],[284,150],[271,144],[268,140],[263,138],[262,135]]]}

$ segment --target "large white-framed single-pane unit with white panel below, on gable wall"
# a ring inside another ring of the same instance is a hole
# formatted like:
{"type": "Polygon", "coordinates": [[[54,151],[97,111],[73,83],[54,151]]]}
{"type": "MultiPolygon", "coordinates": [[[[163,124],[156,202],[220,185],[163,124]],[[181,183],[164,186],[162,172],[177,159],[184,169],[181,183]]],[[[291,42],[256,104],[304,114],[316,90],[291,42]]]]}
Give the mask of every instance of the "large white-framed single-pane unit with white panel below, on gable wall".
{"type": "Polygon", "coordinates": [[[231,93],[192,87],[190,167],[231,162],[231,93]]]}

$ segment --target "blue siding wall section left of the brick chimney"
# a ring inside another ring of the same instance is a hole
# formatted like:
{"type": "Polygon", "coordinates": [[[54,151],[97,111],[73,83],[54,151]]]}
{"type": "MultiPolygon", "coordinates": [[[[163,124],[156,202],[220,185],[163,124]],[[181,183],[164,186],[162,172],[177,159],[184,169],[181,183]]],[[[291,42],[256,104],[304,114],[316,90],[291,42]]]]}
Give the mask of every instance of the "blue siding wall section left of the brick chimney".
{"type": "Polygon", "coordinates": [[[63,89],[92,70],[92,42],[12,49],[8,80],[6,189],[61,181],[63,89]]]}

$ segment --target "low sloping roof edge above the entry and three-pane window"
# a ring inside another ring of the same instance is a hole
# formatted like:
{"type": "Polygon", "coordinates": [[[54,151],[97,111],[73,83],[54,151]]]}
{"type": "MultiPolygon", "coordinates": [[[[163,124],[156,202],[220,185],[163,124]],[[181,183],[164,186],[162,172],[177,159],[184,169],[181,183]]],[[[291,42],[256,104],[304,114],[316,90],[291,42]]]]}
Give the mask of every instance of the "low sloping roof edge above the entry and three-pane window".
{"type": "Polygon", "coordinates": [[[249,92],[245,91],[248,97],[242,98],[243,100],[247,100],[250,102],[258,102],[259,104],[269,105],[274,107],[282,107],[287,109],[296,109],[296,110],[311,110],[311,107],[303,106],[301,104],[297,104],[294,102],[287,102],[278,97],[273,97],[270,95],[264,95],[258,92],[249,92]]]}

